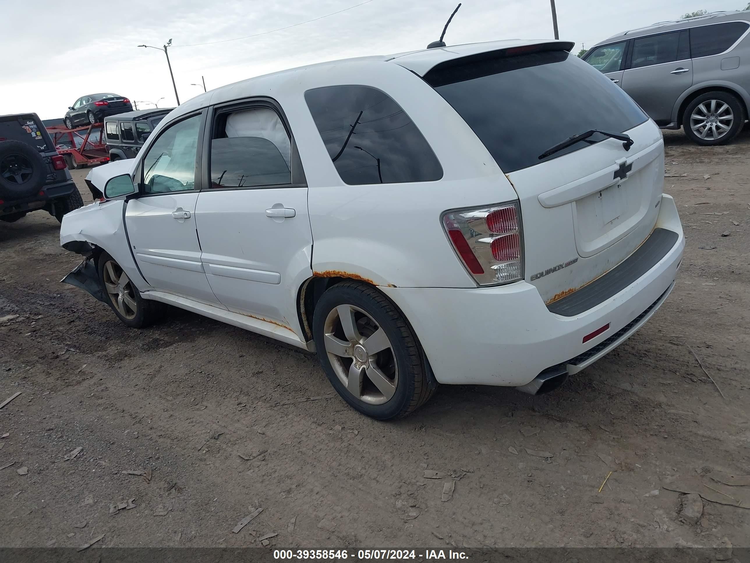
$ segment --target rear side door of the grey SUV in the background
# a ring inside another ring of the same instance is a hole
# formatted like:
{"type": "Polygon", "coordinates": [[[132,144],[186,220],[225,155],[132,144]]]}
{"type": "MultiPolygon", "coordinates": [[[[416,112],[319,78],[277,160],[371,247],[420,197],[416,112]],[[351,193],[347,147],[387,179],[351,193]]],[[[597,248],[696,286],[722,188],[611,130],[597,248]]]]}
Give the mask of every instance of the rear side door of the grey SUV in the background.
{"type": "Polygon", "coordinates": [[[659,125],[671,121],[677,98],[693,83],[687,30],[635,38],[622,89],[659,125]]]}

